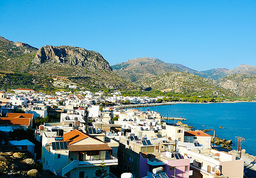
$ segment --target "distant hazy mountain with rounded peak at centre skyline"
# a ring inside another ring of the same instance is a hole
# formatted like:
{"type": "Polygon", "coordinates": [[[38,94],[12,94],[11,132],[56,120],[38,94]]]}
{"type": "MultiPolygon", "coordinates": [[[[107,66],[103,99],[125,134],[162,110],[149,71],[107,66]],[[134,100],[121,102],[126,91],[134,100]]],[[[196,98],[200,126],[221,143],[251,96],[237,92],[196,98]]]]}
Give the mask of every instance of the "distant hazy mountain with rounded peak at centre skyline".
{"type": "Polygon", "coordinates": [[[151,57],[134,58],[115,64],[111,68],[118,76],[128,81],[149,79],[169,72],[197,72],[181,64],[165,63],[151,57]]]}

